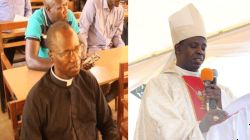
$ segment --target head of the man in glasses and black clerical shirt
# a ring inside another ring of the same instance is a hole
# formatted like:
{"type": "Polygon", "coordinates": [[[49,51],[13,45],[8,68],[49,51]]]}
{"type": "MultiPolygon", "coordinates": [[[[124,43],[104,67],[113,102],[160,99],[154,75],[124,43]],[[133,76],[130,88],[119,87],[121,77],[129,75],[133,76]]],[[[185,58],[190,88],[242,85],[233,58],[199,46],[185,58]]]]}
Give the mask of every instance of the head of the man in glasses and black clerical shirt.
{"type": "Polygon", "coordinates": [[[81,45],[76,33],[70,28],[61,30],[57,36],[57,47],[52,51],[55,74],[70,79],[80,71],[81,45]]]}

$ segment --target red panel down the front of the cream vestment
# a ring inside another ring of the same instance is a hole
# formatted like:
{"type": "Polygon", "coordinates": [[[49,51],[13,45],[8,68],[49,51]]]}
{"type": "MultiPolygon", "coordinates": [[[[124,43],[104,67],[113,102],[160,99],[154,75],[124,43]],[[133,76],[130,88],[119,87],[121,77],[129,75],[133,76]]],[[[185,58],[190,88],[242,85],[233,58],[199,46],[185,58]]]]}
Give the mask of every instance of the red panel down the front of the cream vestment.
{"type": "Polygon", "coordinates": [[[200,121],[207,113],[205,104],[204,104],[204,96],[202,95],[202,91],[204,90],[203,82],[199,77],[194,76],[183,76],[183,79],[186,82],[187,88],[189,90],[189,95],[192,99],[193,109],[195,110],[196,120],[200,121]],[[200,91],[201,95],[198,96],[198,91],[200,91]]]}

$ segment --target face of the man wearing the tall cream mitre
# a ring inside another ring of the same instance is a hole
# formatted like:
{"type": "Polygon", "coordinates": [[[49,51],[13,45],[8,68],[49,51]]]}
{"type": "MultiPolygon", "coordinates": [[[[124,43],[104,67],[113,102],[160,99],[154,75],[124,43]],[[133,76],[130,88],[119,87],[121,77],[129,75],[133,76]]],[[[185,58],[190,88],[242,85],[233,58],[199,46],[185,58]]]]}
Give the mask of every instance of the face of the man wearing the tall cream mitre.
{"type": "Polygon", "coordinates": [[[175,46],[177,66],[197,72],[205,59],[207,40],[196,36],[185,39],[175,46]]]}

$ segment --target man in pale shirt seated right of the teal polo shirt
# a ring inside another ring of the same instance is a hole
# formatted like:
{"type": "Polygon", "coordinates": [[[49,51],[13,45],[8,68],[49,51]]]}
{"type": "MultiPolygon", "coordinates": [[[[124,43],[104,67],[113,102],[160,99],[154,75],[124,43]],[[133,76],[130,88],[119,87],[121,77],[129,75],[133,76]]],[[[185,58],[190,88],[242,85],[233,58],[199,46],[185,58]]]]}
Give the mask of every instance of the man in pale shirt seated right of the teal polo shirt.
{"type": "Polygon", "coordinates": [[[112,47],[125,46],[124,10],[120,0],[88,0],[80,17],[80,39],[88,46],[88,54],[112,47]]]}

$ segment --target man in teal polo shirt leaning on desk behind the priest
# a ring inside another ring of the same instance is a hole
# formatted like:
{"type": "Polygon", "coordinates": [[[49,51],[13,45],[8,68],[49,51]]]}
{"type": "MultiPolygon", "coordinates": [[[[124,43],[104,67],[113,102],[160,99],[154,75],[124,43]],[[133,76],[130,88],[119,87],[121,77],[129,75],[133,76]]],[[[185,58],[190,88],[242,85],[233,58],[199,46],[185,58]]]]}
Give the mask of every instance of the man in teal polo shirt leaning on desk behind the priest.
{"type": "Polygon", "coordinates": [[[44,8],[36,10],[30,17],[25,33],[26,62],[30,69],[48,70],[52,62],[45,45],[47,30],[56,21],[67,21],[78,34],[79,28],[67,0],[44,0],[44,8]]]}

